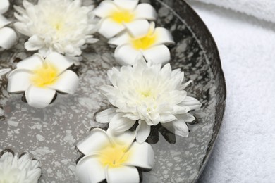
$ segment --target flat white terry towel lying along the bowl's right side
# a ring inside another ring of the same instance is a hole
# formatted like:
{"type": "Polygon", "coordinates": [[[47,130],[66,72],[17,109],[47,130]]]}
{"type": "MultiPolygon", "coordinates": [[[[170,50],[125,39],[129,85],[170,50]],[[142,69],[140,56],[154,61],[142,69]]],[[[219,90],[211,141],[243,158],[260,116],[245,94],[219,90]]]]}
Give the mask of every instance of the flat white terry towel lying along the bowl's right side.
{"type": "Polygon", "coordinates": [[[223,125],[199,182],[275,182],[275,24],[188,3],[212,32],[228,92],[223,125]]]}

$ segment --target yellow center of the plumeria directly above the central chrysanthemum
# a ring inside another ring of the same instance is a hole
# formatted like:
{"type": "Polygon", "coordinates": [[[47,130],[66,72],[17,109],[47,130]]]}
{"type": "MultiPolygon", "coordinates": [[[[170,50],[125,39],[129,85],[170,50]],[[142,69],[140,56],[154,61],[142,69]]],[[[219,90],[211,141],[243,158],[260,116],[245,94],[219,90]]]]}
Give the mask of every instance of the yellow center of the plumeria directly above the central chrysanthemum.
{"type": "Polygon", "coordinates": [[[148,49],[157,41],[157,34],[154,29],[150,29],[145,37],[133,39],[132,44],[135,49],[148,49]]]}

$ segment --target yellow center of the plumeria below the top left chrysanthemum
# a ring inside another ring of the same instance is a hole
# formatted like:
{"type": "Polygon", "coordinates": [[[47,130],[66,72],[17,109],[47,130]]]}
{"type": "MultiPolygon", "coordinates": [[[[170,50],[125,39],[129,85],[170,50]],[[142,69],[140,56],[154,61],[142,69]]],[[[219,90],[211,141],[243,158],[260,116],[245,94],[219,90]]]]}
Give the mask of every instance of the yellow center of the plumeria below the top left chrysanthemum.
{"type": "Polygon", "coordinates": [[[36,87],[46,87],[49,84],[54,84],[59,74],[54,65],[47,65],[47,67],[42,66],[32,72],[34,72],[34,75],[31,76],[30,80],[36,87]]]}

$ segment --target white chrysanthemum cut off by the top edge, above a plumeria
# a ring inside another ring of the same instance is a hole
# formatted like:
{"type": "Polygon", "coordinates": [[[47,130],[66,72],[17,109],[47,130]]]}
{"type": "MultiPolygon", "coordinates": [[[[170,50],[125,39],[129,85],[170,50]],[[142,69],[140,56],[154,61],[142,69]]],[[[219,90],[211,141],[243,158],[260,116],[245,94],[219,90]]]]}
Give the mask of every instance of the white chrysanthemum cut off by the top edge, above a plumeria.
{"type": "Polygon", "coordinates": [[[28,51],[39,50],[42,56],[51,52],[80,56],[81,46],[94,43],[96,22],[92,6],[81,6],[80,0],[39,0],[37,5],[23,1],[24,8],[15,6],[16,30],[30,37],[28,51]]]}

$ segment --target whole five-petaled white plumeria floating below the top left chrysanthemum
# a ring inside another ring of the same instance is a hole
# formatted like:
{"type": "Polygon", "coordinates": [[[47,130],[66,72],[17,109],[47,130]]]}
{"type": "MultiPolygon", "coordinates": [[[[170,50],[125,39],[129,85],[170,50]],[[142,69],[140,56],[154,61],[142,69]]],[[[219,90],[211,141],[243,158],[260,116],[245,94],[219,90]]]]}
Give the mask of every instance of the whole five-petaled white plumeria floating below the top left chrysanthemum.
{"type": "Polygon", "coordinates": [[[36,53],[20,61],[8,75],[8,92],[25,92],[30,106],[44,108],[51,103],[56,91],[73,94],[78,87],[78,76],[67,70],[73,62],[59,53],[43,58],[36,53]]]}

